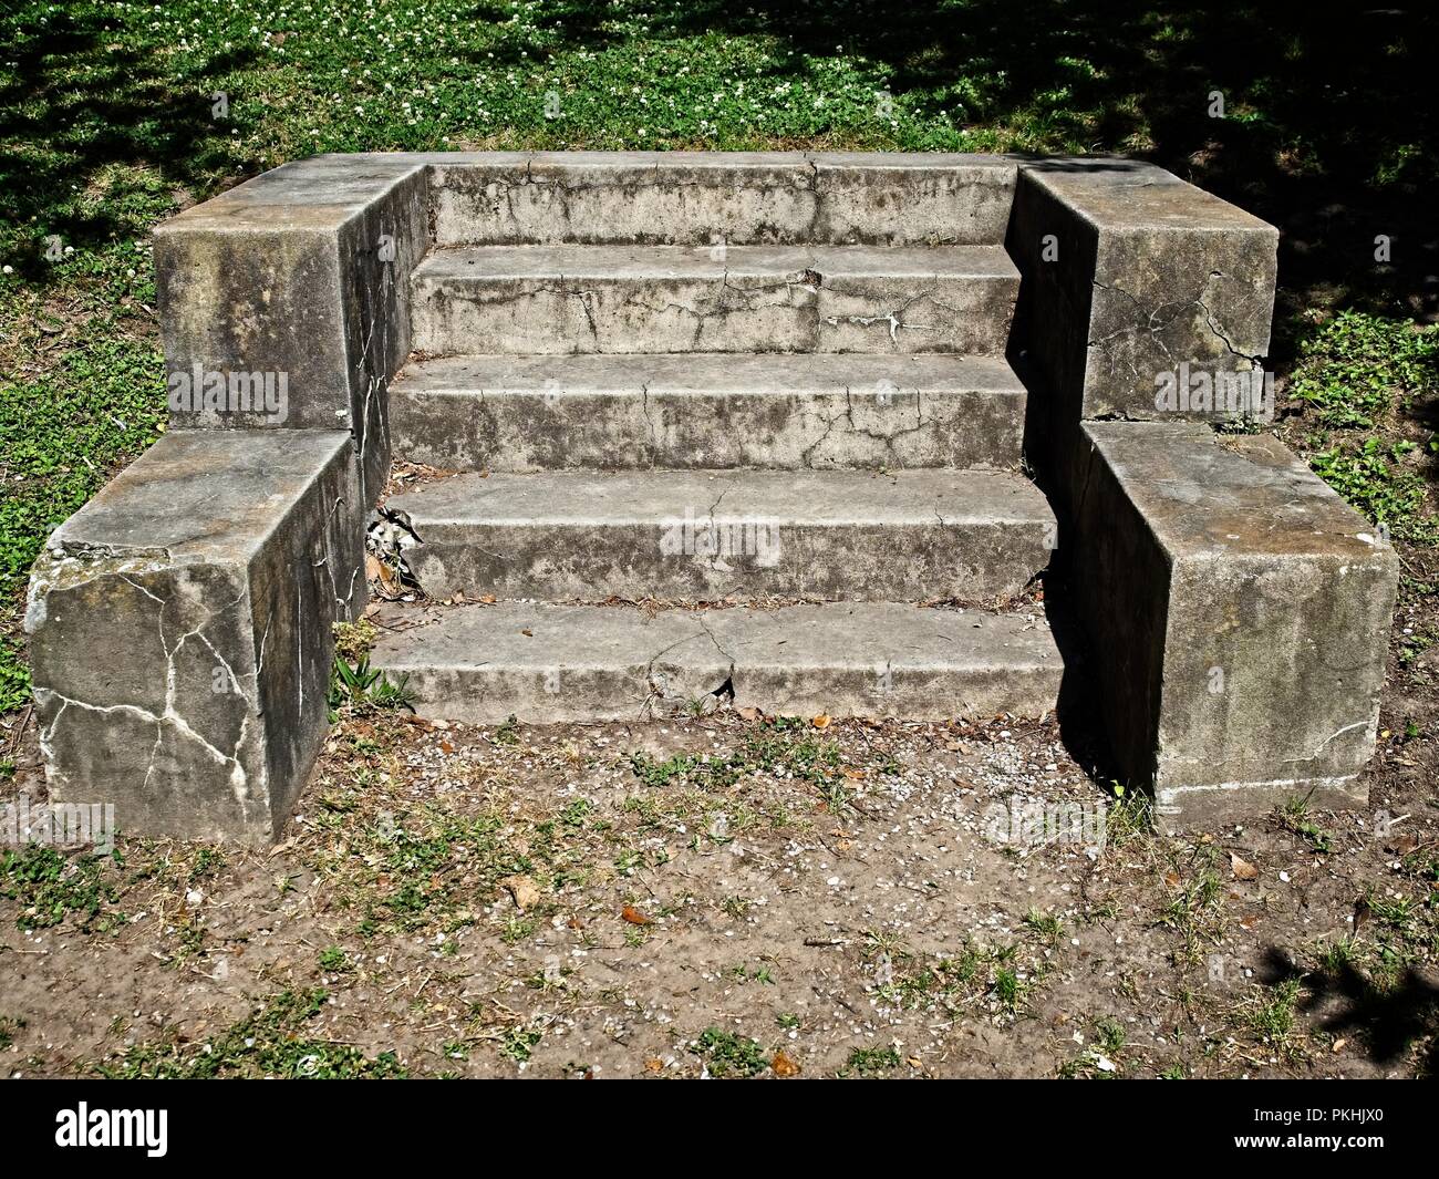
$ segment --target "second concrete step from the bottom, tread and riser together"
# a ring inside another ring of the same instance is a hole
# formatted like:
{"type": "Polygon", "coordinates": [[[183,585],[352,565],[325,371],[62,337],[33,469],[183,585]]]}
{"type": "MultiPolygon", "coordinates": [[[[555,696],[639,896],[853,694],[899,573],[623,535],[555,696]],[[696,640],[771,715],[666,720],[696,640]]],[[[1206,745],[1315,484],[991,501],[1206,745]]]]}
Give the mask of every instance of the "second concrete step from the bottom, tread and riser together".
{"type": "Polygon", "coordinates": [[[389,507],[435,597],[980,602],[1022,590],[1055,546],[1033,484],[979,471],[456,475],[389,507]]]}

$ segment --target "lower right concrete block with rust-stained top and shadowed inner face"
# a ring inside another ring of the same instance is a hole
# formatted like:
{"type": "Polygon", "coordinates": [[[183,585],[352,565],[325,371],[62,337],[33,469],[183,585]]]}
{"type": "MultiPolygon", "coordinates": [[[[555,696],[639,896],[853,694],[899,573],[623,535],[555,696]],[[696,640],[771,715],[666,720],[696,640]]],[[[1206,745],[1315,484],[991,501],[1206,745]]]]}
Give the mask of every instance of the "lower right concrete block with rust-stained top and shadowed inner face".
{"type": "Polygon", "coordinates": [[[1089,422],[1063,538],[1118,766],[1166,828],[1361,805],[1397,557],[1269,436],[1089,422]]]}

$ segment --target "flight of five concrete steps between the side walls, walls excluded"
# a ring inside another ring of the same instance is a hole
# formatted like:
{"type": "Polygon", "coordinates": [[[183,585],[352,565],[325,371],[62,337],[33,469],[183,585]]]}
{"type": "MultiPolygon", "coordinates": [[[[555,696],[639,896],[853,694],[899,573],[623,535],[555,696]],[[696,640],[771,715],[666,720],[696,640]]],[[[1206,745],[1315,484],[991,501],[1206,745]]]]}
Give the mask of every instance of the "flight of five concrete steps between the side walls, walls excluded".
{"type": "Polygon", "coordinates": [[[432,600],[492,605],[387,618],[423,714],[1053,708],[1042,606],[1000,609],[1058,534],[1003,356],[1013,179],[885,160],[436,170],[390,438],[462,474],[386,507],[432,600]]]}

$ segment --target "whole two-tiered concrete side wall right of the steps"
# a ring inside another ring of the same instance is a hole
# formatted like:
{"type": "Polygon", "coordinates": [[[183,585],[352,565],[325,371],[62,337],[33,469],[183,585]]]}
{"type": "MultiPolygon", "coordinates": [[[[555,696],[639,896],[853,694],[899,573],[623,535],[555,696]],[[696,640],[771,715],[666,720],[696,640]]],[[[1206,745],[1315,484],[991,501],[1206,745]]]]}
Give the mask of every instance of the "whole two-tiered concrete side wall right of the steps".
{"type": "Polygon", "coordinates": [[[1115,773],[1166,826],[1363,802],[1394,553],[1278,441],[1213,430],[1272,415],[1278,232],[1148,164],[1048,160],[1007,246],[1115,773]]]}

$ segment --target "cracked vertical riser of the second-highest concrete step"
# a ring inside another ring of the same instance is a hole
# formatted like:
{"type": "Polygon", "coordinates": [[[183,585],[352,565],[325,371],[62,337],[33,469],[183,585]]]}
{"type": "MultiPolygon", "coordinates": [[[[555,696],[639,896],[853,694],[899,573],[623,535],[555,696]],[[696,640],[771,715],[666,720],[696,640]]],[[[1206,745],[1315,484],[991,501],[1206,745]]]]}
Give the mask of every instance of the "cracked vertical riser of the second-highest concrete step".
{"type": "Polygon", "coordinates": [[[1019,279],[416,276],[413,347],[462,353],[1002,353],[1019,279]]]}

